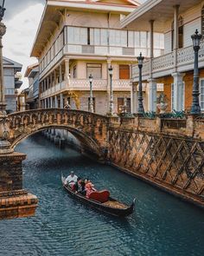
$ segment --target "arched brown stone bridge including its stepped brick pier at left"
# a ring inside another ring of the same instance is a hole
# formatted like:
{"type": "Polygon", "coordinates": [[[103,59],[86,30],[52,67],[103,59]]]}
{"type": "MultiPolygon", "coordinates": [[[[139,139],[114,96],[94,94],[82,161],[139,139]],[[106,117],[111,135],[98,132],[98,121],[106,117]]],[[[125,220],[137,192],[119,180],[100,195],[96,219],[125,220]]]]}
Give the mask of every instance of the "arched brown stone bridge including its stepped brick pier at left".
{"type": "Polygon", "coordinates": [[[25,154],[14,152],[29,135],[48,129],[66,129],[79,141],[84,152],[105,160],[108,118],[80,110],[34,109],[0,117],[0,219],[33,215],[37,198],[22,189],[22,161],[25,154]]]}

